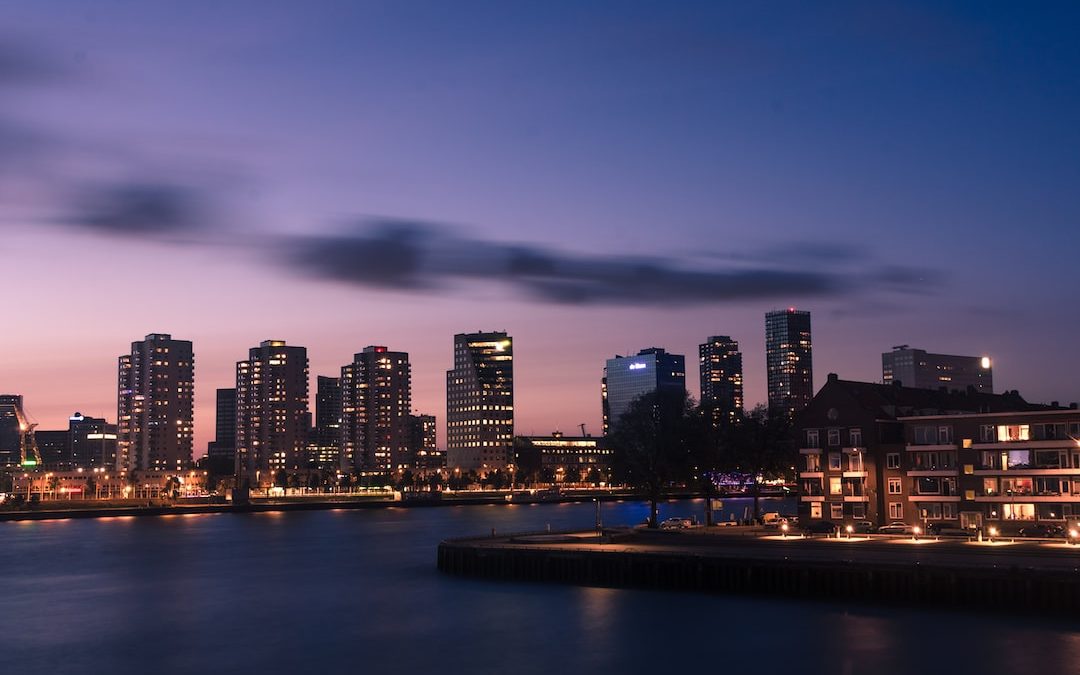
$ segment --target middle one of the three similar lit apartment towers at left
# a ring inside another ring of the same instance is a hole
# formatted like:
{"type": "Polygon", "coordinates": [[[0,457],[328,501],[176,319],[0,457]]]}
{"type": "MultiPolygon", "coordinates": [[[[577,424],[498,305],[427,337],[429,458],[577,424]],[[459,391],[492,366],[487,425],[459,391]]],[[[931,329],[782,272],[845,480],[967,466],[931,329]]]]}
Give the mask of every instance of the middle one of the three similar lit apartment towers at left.
{"type": "Polygon", "coordinates": [[[237,454],[252,486],[306,468],[308,350],[264,340],[237,363],[237,454]]]}

